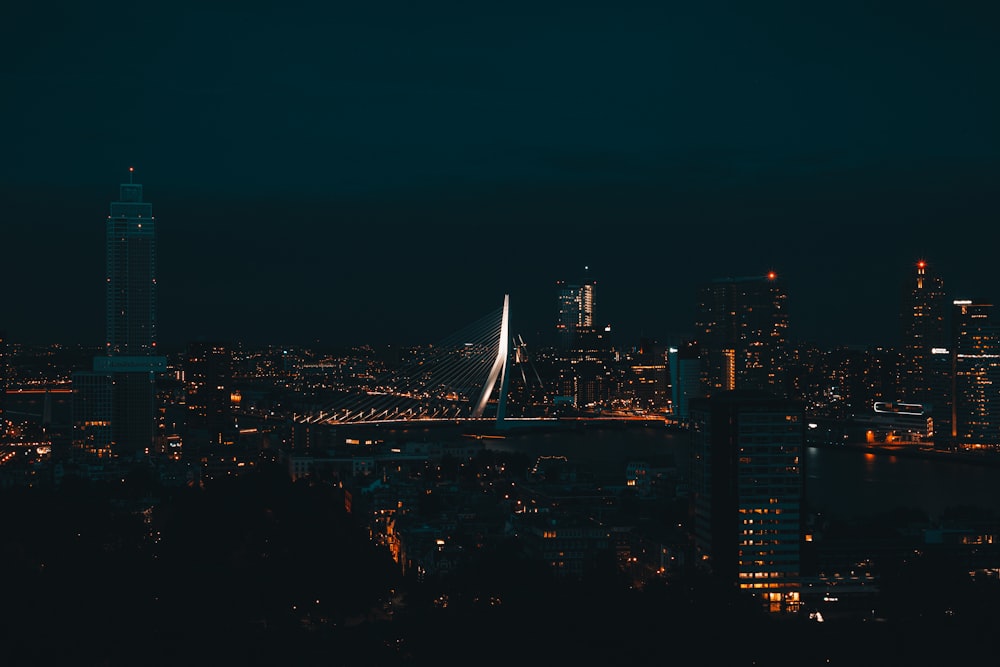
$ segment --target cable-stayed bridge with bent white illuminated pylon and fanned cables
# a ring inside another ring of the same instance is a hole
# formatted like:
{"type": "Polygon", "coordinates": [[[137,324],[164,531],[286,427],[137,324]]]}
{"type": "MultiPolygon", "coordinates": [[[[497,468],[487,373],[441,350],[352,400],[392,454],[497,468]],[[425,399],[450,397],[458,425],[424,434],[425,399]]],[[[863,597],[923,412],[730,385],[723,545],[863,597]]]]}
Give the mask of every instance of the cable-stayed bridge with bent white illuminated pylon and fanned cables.
{"type": "Polygon", "coordinates": [[[502,426],[512,367],[525,373],[522,350],[523,342],[511,337],[510,300],[505,295],[499,309],[358,391],[296,415],[295,421],[333,425],[496,420],[502,426]]]}

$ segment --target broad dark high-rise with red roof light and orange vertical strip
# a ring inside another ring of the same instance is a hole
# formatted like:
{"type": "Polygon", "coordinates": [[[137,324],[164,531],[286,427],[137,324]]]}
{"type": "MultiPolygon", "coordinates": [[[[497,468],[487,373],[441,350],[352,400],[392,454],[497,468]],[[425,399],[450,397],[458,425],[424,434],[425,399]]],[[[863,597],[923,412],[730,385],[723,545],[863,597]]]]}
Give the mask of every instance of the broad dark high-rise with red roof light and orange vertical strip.
{"type": "Polygon", "coordinates": [[[699,290],[695,334],[705,391],[786,393],[786,293],[773,271],[721,278],[699,290]]]}

